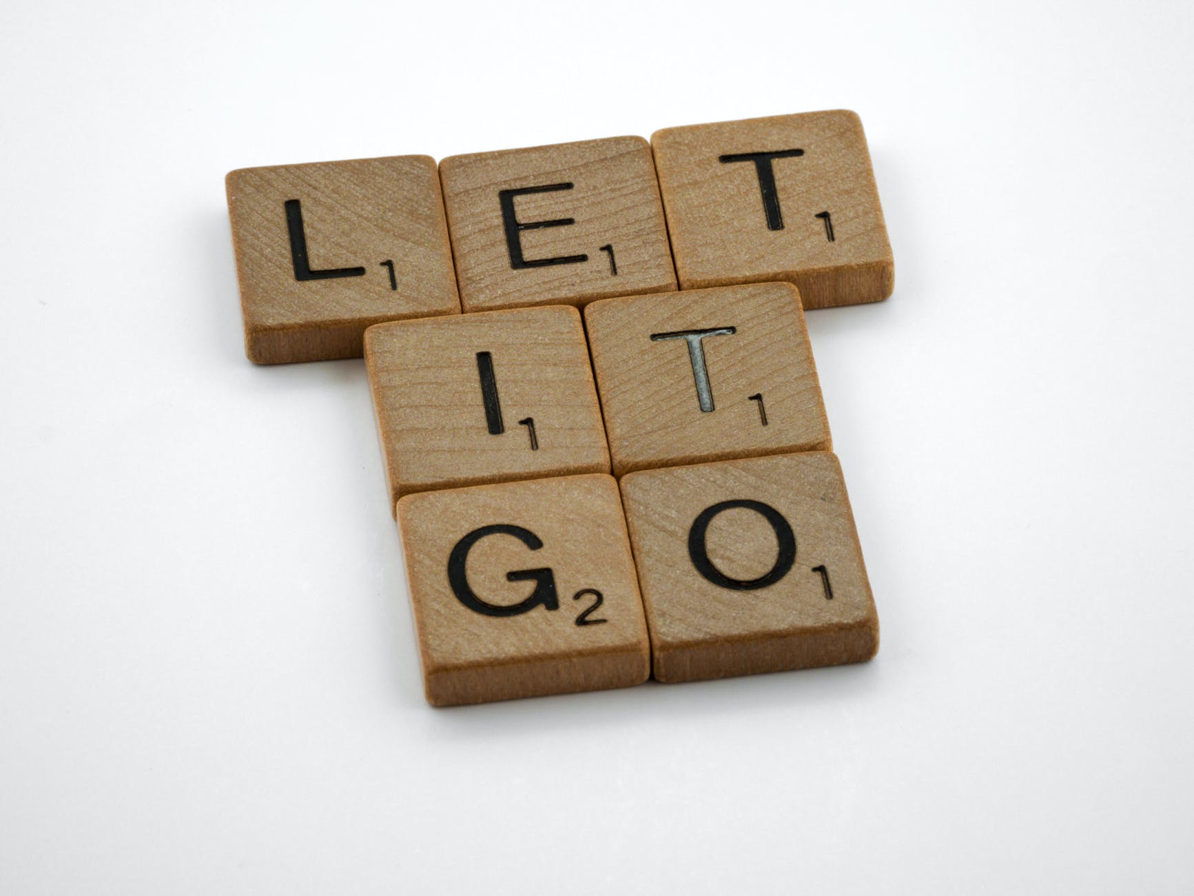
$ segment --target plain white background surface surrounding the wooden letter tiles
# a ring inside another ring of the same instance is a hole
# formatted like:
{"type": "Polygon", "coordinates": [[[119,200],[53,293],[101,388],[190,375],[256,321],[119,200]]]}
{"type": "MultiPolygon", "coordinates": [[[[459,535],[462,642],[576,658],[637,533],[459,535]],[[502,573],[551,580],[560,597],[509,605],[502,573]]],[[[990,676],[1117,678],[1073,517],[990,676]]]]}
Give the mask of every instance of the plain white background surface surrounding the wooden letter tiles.
{"type": "Polygon", "coordinates": [[[0,6],[0,892],[1194,891],[1188,2],[0,6]],[[438,711],[229,168],[849,108],[866,665],[438,711]]]}

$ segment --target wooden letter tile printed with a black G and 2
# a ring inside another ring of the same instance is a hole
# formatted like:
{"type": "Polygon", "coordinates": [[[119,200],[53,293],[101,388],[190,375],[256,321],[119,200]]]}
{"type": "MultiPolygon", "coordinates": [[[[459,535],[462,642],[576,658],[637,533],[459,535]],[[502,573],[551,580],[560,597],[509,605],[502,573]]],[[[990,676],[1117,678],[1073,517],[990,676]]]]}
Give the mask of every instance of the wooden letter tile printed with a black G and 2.
{"type": "Polygon", "coordinates": [[[647,679],[647,628],[613,477],[408,495],[398,521],[427,702],[647,679]]]}

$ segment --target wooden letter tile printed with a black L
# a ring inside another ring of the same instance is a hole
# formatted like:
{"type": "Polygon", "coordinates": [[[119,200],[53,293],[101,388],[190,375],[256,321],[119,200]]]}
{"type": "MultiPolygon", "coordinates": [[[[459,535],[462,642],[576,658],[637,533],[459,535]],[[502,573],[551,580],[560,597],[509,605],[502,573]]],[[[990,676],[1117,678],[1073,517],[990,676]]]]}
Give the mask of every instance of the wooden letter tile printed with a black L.
{"type": "Polygon", "coordinates": [[[251,361],[361,357],[371,324],[460,313],[433,159],[241,168],[227,188],[251,361]]]}

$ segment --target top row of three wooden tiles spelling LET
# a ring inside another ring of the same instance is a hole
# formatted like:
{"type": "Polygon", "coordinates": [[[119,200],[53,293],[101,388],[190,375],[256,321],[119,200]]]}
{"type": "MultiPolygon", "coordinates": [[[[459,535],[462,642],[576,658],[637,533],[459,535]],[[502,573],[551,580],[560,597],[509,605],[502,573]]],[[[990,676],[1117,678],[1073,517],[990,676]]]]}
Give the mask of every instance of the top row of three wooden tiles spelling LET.
{"type": "Polygon", "coordinates": [[[438,170],[429,157],[244,168],[228,202],[259,362],[359,355],[370,324],[461,308],[762,281],[796,284],[811,308],[886,297],[893,277],[853,112],[460,155],[438,170]]]}

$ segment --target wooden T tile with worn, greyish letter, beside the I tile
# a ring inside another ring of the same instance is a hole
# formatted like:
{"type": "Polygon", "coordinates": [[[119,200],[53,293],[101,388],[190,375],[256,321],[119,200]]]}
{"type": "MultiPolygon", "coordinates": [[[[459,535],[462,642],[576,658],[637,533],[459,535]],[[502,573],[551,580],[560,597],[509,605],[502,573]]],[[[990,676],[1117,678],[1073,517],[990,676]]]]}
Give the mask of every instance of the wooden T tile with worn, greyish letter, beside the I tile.
{"type": "Polygon", "coordinates": [[[790,284],[608,299],[585,323],[616,475],[830,448],[790,284]]]}

